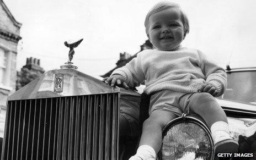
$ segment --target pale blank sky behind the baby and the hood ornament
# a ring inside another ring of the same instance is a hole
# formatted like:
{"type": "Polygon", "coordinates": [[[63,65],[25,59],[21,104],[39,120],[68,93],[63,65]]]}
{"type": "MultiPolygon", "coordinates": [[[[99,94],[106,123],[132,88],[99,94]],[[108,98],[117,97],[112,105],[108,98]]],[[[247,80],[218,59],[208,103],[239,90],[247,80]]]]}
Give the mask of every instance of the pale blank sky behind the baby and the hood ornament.
{"type": "MultiPolygon", "coordinates": [[[[154,0],[3,0],[22,23],[17,70],[27,57],[47,70],[68,60],[64,41],[84,40],[74,49],[79,71],[103,75],[116,66],[119,53],[134,55],[146,40],[144,20],[154,0]]],[[[174,0],[190,21],[182,43],[231,68],[256,67],[255,0],[174,0]]]]}

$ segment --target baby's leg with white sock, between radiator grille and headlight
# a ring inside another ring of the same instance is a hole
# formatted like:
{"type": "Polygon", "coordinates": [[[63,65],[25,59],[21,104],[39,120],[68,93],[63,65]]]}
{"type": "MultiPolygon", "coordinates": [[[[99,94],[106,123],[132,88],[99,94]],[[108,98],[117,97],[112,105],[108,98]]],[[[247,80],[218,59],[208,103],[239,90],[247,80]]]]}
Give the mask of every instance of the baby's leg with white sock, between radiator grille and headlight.
{"type": "Polygon", "coordinates": [[[130,159],[156,159],[162,145],[162,129],[177,116],[168,111],[153,111],[143,123],[140,145],[135,156],[130,159]]]}

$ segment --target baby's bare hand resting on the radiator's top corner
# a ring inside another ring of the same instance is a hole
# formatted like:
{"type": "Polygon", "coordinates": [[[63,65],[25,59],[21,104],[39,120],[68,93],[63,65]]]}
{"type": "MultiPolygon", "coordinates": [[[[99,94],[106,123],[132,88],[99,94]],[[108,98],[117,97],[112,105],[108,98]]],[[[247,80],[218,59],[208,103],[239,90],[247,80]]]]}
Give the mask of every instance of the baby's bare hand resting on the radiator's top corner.
{"type": "Polygon", "coordinates": [[[111,75],[110,77],[104,78],[102,81],[105,81],[105,84],[111,85],[111,86],[123,86],[125,89],[129,89],[129,86],[127,86],[126,82],[124,81],[125,79],[119,75],[119,74],[114,74],[111,75]]]}

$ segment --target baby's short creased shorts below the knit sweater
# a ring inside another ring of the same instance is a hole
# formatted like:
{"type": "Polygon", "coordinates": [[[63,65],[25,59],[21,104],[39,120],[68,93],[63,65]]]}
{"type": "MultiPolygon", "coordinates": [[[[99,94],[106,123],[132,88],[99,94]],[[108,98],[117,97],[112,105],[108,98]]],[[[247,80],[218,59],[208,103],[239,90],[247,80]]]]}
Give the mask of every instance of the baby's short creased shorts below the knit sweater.
{"type": "Polygon", "coordinates": [[[149,114],[156,110],[172,112],[178,117],[183,113],[188,114],[190,112],[190,99],[196,93],[198,92],[184,93],[172,90],[158,91],[150,98],[149,114]]]}

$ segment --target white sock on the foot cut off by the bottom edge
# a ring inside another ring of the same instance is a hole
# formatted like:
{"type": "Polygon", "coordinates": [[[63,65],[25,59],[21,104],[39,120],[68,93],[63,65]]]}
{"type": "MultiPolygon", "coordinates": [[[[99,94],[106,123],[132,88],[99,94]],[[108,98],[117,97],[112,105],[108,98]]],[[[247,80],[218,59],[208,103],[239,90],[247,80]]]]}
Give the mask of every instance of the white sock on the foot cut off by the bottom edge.
{"type": "Polygon", "coordinates": [[[130,159],[136,159],[136,157],[140,157],[143,160],[155,160],[156,152],[151,146],[142,145],[138,147],[136,155],[132,156],[130,159]]]}

